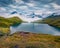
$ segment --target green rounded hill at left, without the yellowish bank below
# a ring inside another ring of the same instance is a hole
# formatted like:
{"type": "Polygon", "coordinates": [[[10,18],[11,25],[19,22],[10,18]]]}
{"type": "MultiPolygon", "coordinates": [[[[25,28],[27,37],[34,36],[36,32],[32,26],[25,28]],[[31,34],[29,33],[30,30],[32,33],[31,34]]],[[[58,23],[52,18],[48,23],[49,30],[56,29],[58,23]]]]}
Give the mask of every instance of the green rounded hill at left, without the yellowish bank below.
{"type": "Polygon", "coordinates": [[[2,27],[10,27],[11,25],[19,24],[22,20],[18,17],[12,17],[12,18],[4,18],[0,17],[0,26],[2,27]]]}

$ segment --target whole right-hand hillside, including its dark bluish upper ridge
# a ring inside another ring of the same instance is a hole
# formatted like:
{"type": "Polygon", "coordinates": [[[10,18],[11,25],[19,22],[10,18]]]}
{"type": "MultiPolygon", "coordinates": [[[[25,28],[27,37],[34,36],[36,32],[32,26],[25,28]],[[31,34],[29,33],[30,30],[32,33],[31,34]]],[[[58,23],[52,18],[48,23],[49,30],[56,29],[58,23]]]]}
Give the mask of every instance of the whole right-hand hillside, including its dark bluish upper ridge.
{"type": "Polygon", "coordinates": [[[60,28],[60,15],[49,16],[43,19],[42,22],[60,28]]]}

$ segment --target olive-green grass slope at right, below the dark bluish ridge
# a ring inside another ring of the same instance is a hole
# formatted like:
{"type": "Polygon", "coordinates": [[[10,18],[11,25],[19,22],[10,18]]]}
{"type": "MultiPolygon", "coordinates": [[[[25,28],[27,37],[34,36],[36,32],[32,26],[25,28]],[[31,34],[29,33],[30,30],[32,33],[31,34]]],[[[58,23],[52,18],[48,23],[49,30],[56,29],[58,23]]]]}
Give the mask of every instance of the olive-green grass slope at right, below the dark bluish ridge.
{"type": "Polygon", "coordinates": [[[54,18],[48,18],[48,19],[43,20],[43,22],[60,28],[60,19],[58,19],[58,18],[56,20],[55,19],[53,20],[53,19],[54,18]]]}

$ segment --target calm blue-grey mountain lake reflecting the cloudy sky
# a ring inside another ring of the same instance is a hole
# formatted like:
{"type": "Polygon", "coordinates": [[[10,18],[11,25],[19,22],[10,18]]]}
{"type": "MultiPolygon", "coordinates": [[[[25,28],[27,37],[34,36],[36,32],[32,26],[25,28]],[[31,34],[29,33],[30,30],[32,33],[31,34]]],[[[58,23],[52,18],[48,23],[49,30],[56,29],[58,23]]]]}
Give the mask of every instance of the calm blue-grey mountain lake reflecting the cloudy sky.
{"type": "Polygon", "coordinates": [[[10,27],[11,34],[19,31],[32,32],[32,33],[42,33],[51,35],[60,35],[60,30],[52,27],[48,24],[39,23],[21,23],[18,26],[10,27]]]}

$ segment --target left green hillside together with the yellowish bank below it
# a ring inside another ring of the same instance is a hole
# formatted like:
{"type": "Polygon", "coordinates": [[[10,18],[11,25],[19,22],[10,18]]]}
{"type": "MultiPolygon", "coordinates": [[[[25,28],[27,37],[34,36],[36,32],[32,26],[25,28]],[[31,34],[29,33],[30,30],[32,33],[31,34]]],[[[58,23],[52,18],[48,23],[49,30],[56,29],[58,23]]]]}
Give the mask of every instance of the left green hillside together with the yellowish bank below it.
{"type": "Polygon", "coordinates": [[[10,32],[9,28],[11,25],[20,24],[22,20],[18,17],[4,18],[0,17],[0,35],[7,34],[10,32]]]}

